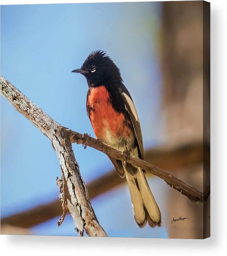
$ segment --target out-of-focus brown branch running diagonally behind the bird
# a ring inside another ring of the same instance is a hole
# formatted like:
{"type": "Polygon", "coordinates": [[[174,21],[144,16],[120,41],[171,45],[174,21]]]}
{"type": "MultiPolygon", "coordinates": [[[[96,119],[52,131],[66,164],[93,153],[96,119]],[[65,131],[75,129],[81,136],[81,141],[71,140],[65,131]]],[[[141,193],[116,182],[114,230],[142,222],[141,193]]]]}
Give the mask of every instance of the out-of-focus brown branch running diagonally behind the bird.
{"type": "MultiPolygon", "coordinates": [[[[157,146],[145,151],[145,159],[161,168],[170,168],[172,173],[184,166],[197,166],[202,162],[202,141],[185,142],[157,146]]],[[[150,175],[149,173],[147,175],[150,175]]],[[[93,199],[107,191],[122,185],[122,179],[112,170],[86,185],[90,199],[93,199]]],[[[48,197],[48,195],[47,195],[48,197]]],[[[59,199],[48,204],[39,205],[33,209],[11,215],[1,220],[1,225],[11,225],[29,228],[62,214],[62,206],[59,199]]]]}

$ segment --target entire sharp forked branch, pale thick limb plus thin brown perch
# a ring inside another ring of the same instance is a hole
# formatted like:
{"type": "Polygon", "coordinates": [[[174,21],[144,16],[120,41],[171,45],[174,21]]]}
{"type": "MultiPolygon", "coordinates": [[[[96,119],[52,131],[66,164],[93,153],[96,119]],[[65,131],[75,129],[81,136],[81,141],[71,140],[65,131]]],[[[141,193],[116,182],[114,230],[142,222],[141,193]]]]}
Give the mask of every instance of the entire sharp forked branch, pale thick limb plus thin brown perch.
{"type": "MultiPolygon", "coordinates": [[[[27,99],[18,89],[16,89],[13,85],[11,85],[4,77],[1,77],[1,92],[3,96],[5,96],[11,102],[11,104],[16,108],[16,110],[18,110],[20,113],[25,115],[25,117],[29,119],[38,129],[40,129],[45,136],[51,139],[52,145],[55,148],[56,153],[59,157],[62,172],[64,174],[63,179],[60,182],[61,183],[60,187],[61,188],[64,187],[64,185],[62,186],[62,183],[64,184],[64,177],[67,177],[67,179],[65,178],[65,181],[67,182],[67,188],[68,189],[70,188],[69,189],[69,192],[71,192],[70,199],[72,198],[74,199],[74,196],[76,199],[77,197],[79,198],[82,197],[83,202],[85,198],[87,200],[87,203],[89,202],[88,205],[84,203],[85,209],[82,209],[82,210],[86,210],[86,207],[91,208],[91,205],[90,205],[87,189],[79,173],[79,168],[72,151],[71,143],[85,144],[86,146],[88,145],[116,159],[123,160],[135,166],[141,167],[143,170],[148,171],[160,177],[161,179],[163,179],[168,185],[180,191],[180,193],[188,197],[194,203],[204,203],[208,198],[210,193],[210,184],[208,184],[205,190],[206,194],[205,193],[203,194],[198,189],[181,181],[177,177],[169,174],[168,172],[165,172],[162,169],[154,165],[151,165],[150,163],[147,163],[146,161],[135,158],[133,156],[130,156],[129,159],[126,159],[126,156],[124,154],[122,155],[122,152],[120,152],[119,150],[116,150],[115,148],[111,148],[110,146],[102,143],[97,139],[91,138],[89,136],[84,136],[78,132],[62,127],[60,124],[55,122],[51,117],[49,117],[45,112],[43,112],[40,108],[38,108],[34,103],[32,103],[29,99],[27,99]],[[64,156],[69,156],[69,158],[65,158],[64,156]],[[75,183],[77,184],[78,182],[77,179],[79,180],[79,184],[75,186],[75,183]],[[81,194],[80,191],[82,191],[83,193],[81,194]]],[[[65,194],[67,193],[63,193],[63,195],[65,194]]],[[[64,198],[62,198],[63,209],[64,209],[65,202],[67,202],[67,206],[68,208],[70,208],[69,209],[70,212],[72,211],[73,213],[75,213],[72,216],[74,219],[74,223],[76,220],[75,226],[77,228],[78,226],[80,227],[79,233],[81,234],[81,230],[83,230],[81,223],[87,223],[85,219],[82,218],[82,214],[78,215],[81,204],[77,204],[76,201],[74,200],[70,201],[69,199],[65,200],[64,198]],[[76,208],[76,211],[75,211],[75,208],[76,208]],[[80,216],[79,218],[80,222],[78,222],[78,216],[80,216]]],[[[92,213],[93,213],[93,209],[92,209],[92,213]]],[[[64,213],[63,213],[62,219],[63,218],[64,218],[64,213]]],[[[101,228],[97,220],[94,225],[96,225],[98,228],[101,228]]],[[[87,230],[86,225],[84,226],[84,228],[86,232],[89,233],[90,229],[87,230]]],[[[101,230],[100,232],[102,233],[104,231],[101,230]]]]}

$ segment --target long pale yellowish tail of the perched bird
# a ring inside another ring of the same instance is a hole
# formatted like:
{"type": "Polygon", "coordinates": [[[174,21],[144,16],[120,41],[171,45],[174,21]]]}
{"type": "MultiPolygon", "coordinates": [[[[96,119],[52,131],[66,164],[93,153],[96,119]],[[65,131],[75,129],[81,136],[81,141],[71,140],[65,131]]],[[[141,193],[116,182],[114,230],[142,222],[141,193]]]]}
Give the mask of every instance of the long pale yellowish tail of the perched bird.
{"type": "Polygon", "coordinates": [[[161,213],[141,168],[123,165],[134,209],[135,221],[140,228],[161,226],[161,213]]]}

